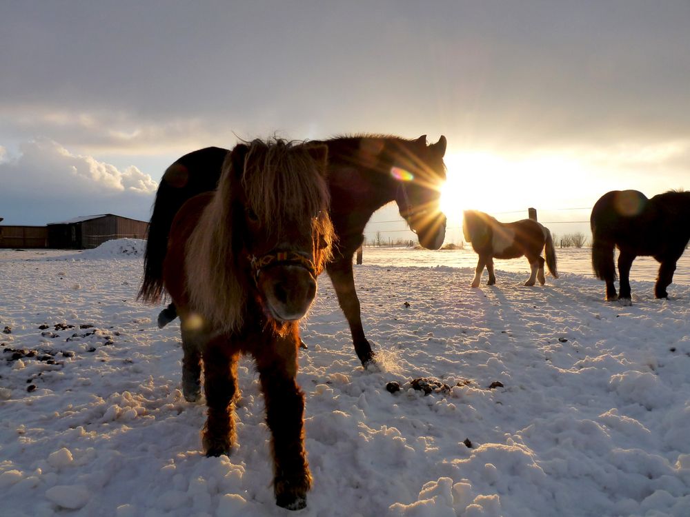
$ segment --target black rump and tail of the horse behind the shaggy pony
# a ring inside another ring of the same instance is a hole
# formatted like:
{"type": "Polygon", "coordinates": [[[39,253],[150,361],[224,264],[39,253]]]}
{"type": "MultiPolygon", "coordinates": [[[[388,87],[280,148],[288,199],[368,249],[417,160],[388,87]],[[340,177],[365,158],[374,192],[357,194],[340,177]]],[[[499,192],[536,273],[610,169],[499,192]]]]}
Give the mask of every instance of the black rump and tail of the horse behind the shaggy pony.
{"type": "Polygon", "coordinates": [[[185,201],[215,189],[227,149],[206,148],[185,154],[166,170],[156,192],[144,253],[144,281],[137,298],[158,303],[163,296],[163,263],[175,214],[185,201]]]}

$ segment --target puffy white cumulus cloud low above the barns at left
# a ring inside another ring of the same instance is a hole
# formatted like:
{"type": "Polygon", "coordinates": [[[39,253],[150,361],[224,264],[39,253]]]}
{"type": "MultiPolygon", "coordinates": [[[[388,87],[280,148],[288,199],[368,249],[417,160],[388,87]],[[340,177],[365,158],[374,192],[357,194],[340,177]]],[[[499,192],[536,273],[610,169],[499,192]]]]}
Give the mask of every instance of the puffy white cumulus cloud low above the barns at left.
{"type": "Polygon", "coordinates": [[[50,139],[19,149],[18,156],[6,154],[0,161],[5,224],[41,225],[103,213],[148,219],[158,185],[134,165],[121,170],[50,139]]]}

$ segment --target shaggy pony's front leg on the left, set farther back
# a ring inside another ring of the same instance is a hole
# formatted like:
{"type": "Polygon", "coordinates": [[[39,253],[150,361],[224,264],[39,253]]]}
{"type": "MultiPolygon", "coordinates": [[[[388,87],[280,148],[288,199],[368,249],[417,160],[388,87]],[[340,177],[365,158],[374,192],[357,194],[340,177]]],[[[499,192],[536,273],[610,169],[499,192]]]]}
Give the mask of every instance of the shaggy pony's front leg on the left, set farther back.
{"type": "Polygon", "coordinates": [[[227,341],[216,338],[206,345],[204,358],[204,394],[206,425],[201,442],[206,456],[230,454],[235,441],[232,404],[237,396],[237,360],[239,353],[228,353],[227,341]]]}

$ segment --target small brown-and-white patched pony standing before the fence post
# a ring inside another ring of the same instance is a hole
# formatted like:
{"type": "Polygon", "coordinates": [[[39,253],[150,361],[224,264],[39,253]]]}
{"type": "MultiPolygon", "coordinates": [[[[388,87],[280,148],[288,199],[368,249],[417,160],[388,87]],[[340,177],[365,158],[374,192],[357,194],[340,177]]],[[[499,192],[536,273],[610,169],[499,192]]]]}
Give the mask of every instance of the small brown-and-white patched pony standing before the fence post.
{"type": "Polygon", "coordinates": [[[513,223],[500,223],[494,217],[477,210],[466,210],[462,219],[462,232],[465,241],[472,243],[472,249],[479,254],[475,277],[472,287],[479,287],[484,266],[489,271],[489,281],[486,285],[494,285],[496,276],[493,274],[493,259],[517,259],[526,256],[531,267],[531,274],[524,285],[534,285],[538,280],[544,285],[544,259],[553,278],[558,278],[556,272],[556,254],[553,249],[553,239],[549,228],[531,219],[522,219],[513,223]]]}

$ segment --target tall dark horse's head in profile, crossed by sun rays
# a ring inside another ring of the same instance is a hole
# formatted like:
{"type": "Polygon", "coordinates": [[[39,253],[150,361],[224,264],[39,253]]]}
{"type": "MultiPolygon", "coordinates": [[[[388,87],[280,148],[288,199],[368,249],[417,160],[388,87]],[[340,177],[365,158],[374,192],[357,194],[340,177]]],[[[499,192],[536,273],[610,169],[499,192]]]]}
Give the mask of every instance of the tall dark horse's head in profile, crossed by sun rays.
{"type": "Polygon", "coordinates": [[[397,183],[395,201],[400,215],[428,250],[438,250],[446,236],[446,216],[439,209],[446,181],[446,137],[426,145],[426,135],[400,146],[393,156],[391,175],[397,183]]]}

